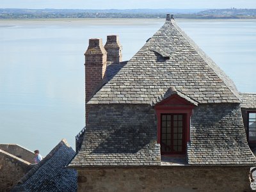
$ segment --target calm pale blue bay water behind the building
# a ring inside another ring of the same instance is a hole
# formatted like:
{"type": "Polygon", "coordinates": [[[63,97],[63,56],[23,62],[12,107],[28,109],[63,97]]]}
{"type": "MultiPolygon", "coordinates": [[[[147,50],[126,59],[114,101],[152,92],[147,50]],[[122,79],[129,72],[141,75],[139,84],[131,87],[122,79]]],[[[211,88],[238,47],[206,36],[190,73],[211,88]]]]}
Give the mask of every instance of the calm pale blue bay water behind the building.
{"type": "MultiPolygon", "coordinates": [[[[241,92],[256,92],[256,20],[177,20],[241,92]]],[[[84,127],[84,52],[117,34],[129,60],[163,19],[0,20],[0,143],[45,156],[84,127]]]]}

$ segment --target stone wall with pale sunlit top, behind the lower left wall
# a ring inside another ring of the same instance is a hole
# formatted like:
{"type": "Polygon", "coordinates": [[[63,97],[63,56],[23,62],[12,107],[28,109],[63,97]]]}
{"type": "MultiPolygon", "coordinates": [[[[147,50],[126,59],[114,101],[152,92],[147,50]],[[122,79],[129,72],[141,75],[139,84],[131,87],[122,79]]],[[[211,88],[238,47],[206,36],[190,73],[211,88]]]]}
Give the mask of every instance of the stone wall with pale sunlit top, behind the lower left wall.
{"type": "Polygon", "coordinates": [[[0,144],[0,149],[29,163],[35,163],[34,152],[17,144],[0,144]]]}

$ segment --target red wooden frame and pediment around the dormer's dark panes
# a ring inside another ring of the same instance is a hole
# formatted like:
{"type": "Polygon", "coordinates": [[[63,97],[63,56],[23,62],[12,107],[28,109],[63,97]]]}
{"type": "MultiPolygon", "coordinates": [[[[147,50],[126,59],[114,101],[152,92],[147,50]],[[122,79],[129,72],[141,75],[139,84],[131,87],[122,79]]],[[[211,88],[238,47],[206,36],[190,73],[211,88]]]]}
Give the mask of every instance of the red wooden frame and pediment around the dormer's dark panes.
{"type": "Polygon", "coordinates": [[[184,147],[182,152],[170,152],[162,153],[161,155],[170,155],[170,156],[179,156],[186,155],[187,143],[190,141],[190,117],[193,114],[194,104],[188,102],[188,100],[180,97],[179,95],[172,95],[168,99],[164,99],[155,106],[156,115],[157,115],[157,143],[161,145],[161,115],[162,114],[182,114],[184,115],[184,131],[182,132],[184,137],[184,147]]]}

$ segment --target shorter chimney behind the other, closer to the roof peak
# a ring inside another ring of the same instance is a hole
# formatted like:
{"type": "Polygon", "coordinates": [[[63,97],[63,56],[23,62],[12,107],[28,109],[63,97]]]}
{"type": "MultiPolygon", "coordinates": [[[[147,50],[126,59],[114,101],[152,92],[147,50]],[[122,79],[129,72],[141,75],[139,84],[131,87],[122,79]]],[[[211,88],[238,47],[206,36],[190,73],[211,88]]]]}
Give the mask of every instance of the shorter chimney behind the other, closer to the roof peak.
{"type": "Polygon", "coordinates": [[[107,61],[122,62],[122,46],[119,43],[118,35],[108,35],[104,48],[108,52],[107,61]]]}

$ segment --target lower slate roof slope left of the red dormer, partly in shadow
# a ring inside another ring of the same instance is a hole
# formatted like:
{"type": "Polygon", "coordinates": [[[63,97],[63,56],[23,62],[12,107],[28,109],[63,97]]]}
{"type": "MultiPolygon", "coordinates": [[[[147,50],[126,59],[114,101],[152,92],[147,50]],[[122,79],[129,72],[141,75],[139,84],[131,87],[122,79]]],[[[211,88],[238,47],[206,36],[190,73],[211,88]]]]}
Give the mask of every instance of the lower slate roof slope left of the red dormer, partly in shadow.
{"type": "Polygon", "coordinates": [[[83,144],[68,166],[161,164],[155,114],[151,106],[93,105],[88,119],[83,144]]]}

